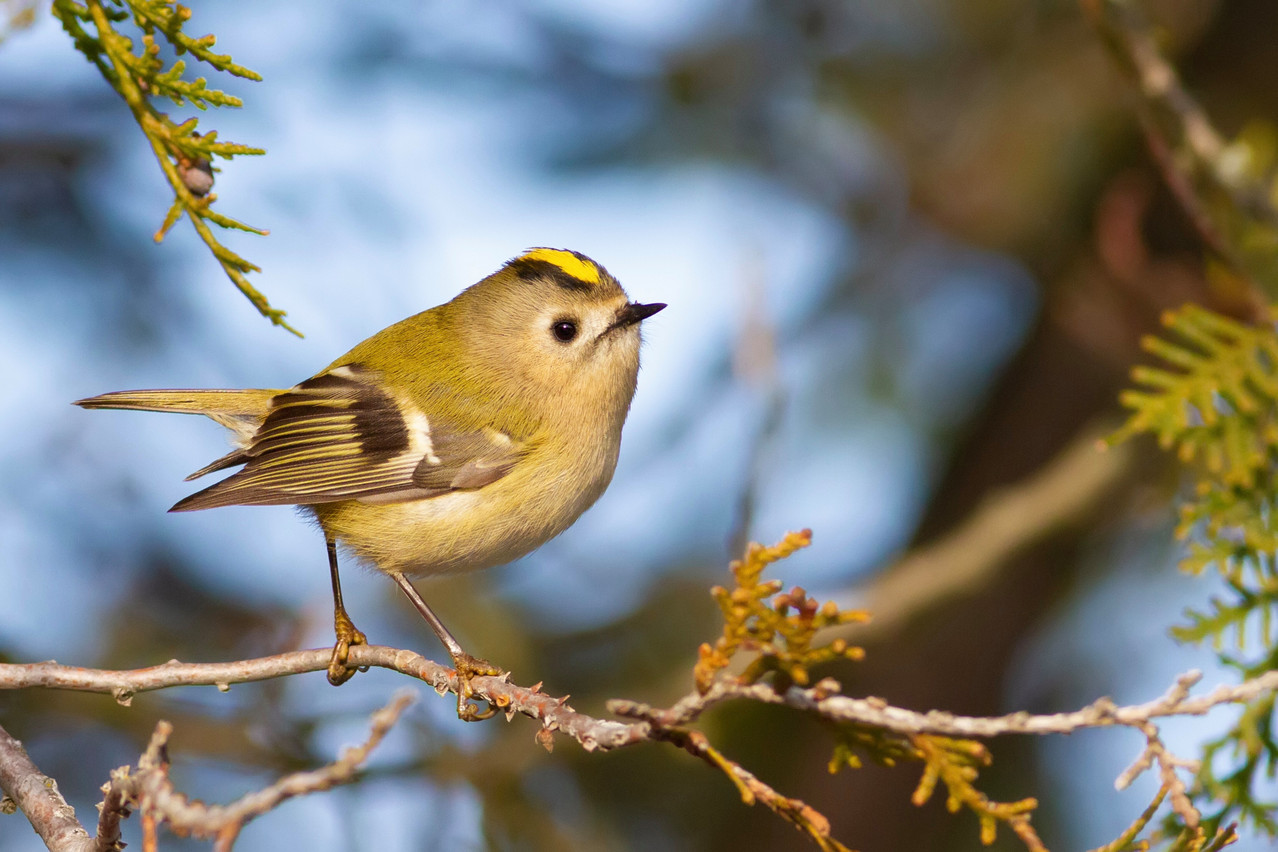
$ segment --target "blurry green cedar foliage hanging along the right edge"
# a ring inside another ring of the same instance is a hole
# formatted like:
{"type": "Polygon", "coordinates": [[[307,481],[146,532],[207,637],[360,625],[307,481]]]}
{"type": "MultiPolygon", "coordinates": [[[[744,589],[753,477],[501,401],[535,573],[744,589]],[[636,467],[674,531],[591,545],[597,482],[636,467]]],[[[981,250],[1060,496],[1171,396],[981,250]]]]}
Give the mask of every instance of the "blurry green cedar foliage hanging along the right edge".
{"type": "MultiPolygon", "coordinates": [[[[1172,635],[1212,643],[1226,666],[1255,677],[1278,664],[1278,332],[1272,318],[1249,326],[1197,305],[1169,312],[1163,324],[1167,336],[1143,345],[1166,367],[1132,370],[1140,390],[1120,397],[1132,415],[1112,441],[1153,434],[1192,471],[1176,526],[1187,543],[1181,566],[1214,567],[1228,594],[1190,609],[1172,635]]],[[[1237,819],[1278,835],[1275,805],[1256,798],[1256,786],[1278,772],[1273,713],[1273,696],[1261,696],[1204,746],[1192,793],[1208,834],[1237,819]]]]}

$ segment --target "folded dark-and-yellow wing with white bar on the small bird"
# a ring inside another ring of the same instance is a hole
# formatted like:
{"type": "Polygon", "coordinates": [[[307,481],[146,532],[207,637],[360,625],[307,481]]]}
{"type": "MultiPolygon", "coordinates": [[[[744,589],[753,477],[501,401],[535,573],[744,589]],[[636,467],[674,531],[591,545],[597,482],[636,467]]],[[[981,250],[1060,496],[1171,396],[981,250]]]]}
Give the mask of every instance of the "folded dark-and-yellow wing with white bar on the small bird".
{"type": "Polygon", "coordinates": [[[401,405],[376,379],[346,364],[279,393],[248,446],[202,473],[244,469],[171,511],[423,499],[496,482],[525,450],[497,429],[459,429],[401,405]]]}

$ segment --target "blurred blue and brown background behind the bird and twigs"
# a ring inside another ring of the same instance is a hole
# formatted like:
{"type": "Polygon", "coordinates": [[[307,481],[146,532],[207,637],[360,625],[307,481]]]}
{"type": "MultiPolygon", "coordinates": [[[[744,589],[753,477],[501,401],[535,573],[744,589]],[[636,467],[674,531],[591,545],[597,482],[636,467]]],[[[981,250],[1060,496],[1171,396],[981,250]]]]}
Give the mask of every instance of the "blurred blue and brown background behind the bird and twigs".
{"type": "MultiPolygon", "coordinates": [[[[1278,6],[1149,11],[1224,133],[1274,120],[1278,6]]],[[[1070,450],[1121,418],[1159,312],[1210,299],[1201,245],[1076,3],[210,1],[188,29],[265,77],[211,80],[247,107],[201,126],[268,151],[221,164],[215,192],[271,230],[225,241],[305,339],[258,317],[185,222],[152,243],[169,194],[125,106],[42,8],[9,33],[0,658],[133,668],[331,644],[322,539],[293,511],[165,513],[225,452],[219,427],[69,402],[289,386],[550,245],[670,309],[644,326],[599,503],[516,565],[422,584],[516,681],[593,714],[608,697],[674,701],[720,630],[707,589],[728,559],[804,526],[814,544],[778,566],[787,585],[896,613],[850,634],[868,659],[828,672],[850,694],[1054,711],[1149,700],[1192,667],[1229,677],[1167,635],[1217,582],[1174,568],[1174,476],[1153,456],[1070,450]],[[882,579],[902,554],[969,529],[1062,453],[1059,489],[1005,511],[1016,547],[978,540],[989,571],[892,609],[882,579]]],[[[351,567],[345,585],[371,641],[442,657],[385,579],[351,567]]],[[[335,690],[314,673],[130,708],[31,691],[0,695],[0,723],[92,820],[98,786],[160,718],[179,788],[229,801],[362,740],[403,685],[369,672],[335,690]]],[[[452,706],[427,692],[366,780],[286,803],[238,848],[813,848],[677,750],[547,755],[527,720],[465,726],[452,706]]],[[[1228,713],[1169,723],[1171,746],[1195,756],[1228,713]]],[[[774,709],[723,708],[705,727],[854,848],[980,848],[970,814],[909,803],[915,766],[832,777],[828,731],[774,709]]],[[[1113,789],[1140,746],[997,741],[980,787],[1038,797],[1051,848],[1098,846],[1153,795],[1149,779],[1113,789]]],[[[37,848],[0,816],[0,849],[37,848]]],[[[1021,847],[1005,832],[996,848],[1021,847]]]]}

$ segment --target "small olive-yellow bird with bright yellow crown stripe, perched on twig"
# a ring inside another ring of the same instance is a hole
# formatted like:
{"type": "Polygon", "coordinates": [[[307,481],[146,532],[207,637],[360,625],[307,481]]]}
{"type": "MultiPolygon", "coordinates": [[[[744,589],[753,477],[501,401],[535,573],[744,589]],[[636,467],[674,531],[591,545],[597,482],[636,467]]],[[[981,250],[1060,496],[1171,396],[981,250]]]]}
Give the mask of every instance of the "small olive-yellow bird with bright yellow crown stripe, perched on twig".
{"type": "Polygon", "coordinates": [[[607,488],[639,373],[630,301],[578,252],[529,249],[455,299],[385,328],[286,390],[104,393],[75,405],[203,414],[235,448],[187,479],[243,465],[171,510],[294,505],[323,530],[336,644],[328,681],[364,644],[341,600],[337,545],[390,575],[470,680],[466,654],[410,577],[504,565],[575,521],[607,488]]]}

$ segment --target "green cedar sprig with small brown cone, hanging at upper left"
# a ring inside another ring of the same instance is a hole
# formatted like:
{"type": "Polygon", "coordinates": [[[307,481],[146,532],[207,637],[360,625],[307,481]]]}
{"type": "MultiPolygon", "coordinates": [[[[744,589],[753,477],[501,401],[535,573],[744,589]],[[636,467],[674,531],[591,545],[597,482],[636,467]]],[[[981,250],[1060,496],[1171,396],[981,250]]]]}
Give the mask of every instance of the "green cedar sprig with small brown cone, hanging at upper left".
{"type": "Polygon", "coordinates": [[[210,88],[203,77],[189,79],[184,59],[176,59],[165,68],[165,45],[179,57],[190,56],[233,77],[249,80],[261,80],[262,77],[235,64],[229,55],[215,52],[215,36],[192,37],[183,32],[183,26],[190,19],[190,9],[174,0],[54,0],[52,13],[75,49],[124,98],[173,189],[173,204],[155,234],[156,241],[164,240],[185,215],[222,271],[253,307],[276,326],[296,335],[298,331],[285,322],[285,312],[272,308],[266,296],[249,284],[248,273],[261,272],[259,267],[222,245],[210,227],[212,224],[229,230],[267,234],[215,211],[212,204],[217,195],[210,192],[213,172],[219,171],[212,165],[215,158],[231,160],[238,155],[263,155],[266,151],[222,142],[216,130],[201,133],[196,118],[178,123],[153,103],[155,98],[166,97],[178,106],[190,105],[201,111],[210,106],[243,106],[243,101],[234,95],[210,88]],[[132,36],[119,28],[127,22],[135,28],[132,36]]]}

